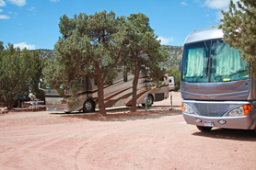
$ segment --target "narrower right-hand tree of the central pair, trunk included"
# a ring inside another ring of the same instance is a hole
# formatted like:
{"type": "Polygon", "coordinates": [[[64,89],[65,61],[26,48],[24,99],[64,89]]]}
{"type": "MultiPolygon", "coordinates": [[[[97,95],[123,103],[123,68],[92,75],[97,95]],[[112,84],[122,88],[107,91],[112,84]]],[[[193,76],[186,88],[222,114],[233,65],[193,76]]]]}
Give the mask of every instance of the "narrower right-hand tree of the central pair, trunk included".
{"type": "Polygon", "coordinates": [[[132,14],[127,18],[128,25],[128,51],[127,65],[134,74],[133,106],[131,111],[136,111],[136,96],[139,73],[145,68],[151,70],[153,80],[159,80],[165,72],[158,67],[168,57],[168,52],[161,50],[160,40],[154,30],[149,26],[149,18],[144,14],[132,14]],[[155,75],[155,76],[154,76],[155,75]]]}

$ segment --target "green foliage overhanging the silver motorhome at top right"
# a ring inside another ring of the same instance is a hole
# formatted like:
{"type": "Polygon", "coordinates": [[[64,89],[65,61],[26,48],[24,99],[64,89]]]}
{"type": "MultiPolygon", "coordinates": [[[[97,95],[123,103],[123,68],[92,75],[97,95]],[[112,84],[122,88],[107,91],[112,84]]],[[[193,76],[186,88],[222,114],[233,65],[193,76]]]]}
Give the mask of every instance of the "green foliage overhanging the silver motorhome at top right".
{"type": "Polygon", "coordinates": [[[241,0],[237,5],[230,1],[229,11],[222,11],[224,19],[219,28],[225,33],[223,40],[239,49],[250,64],[250,74],[256,77],[256,2],[241,0]]]}

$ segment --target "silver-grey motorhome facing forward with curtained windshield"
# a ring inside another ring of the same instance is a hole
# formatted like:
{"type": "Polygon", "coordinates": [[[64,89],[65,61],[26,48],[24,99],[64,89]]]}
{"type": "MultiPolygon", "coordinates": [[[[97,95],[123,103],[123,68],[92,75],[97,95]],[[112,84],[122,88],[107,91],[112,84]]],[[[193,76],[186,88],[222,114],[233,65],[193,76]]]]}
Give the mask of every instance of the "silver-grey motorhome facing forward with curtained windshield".
{"type": "Polygon", "coordinates": [[[202,131],[255,130],[256,81],[223,35],[221,29],[205,28],[185,40],[180,75],[183,117],[202,131]]]}

